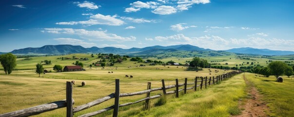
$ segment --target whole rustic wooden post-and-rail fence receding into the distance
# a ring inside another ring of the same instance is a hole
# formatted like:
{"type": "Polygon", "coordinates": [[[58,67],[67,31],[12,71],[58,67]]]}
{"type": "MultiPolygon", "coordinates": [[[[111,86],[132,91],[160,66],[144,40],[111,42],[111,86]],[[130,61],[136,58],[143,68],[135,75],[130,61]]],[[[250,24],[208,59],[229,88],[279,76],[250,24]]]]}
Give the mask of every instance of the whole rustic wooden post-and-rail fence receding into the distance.
{"type": "Polygon", "coordinates": [[[185,78],[185,82],[179,84],[178,79],[176,79],[175,85],[168,85],[168,86],[165,86],[164,79],[162,79],[161,80],[162,87],[151,89],[151,82],[148,82],[147,90],[133,92],[133,93],[122,93],[122,94],[119,93],[119,79],[116,79],[115,93],[110,94],[110,95],[103,97],[103,98],[96,99],[94,101],[88,102],[86,104],[83,104],[83,105],[80,105],[77,107],[73,107],[73,104],[75,101],[72,98],[72,88],[73,88],[72,83],[67,81],[66,82],[66,99],[38,105],[35,107],[23,109],[23,110],[18,110],[18,111],[14,111],[14,112],[10,112],[10,113],[1,114],[0,117],[27,117],[27,116],[38,115],[38,114],[41,114],[41,113],[44,113],[47,111],[52,111],[52,110],[63,108],[63,107],[66,107],[66,117],[73,117],[74,113],[77,113],[77,112],[82,111],[84,109],[98,105],[98,104],[100,104],[104,101],[107,101],[109,99],[112,99],[112,98],[115,98],[114,105],[107,107],[107,108],[104,108],[104,109],[101,109],[101,110],[98,110],[98,111],[95,111],[95,112],[92,112],[92,113],[87,113],[87,114],[81,115],[79,117],[92,117],[92,116],[101,114],[103,112],[106,112],[106,111],[109,111],[112,109],[114,109],[113,117],[118,117],[118,108],[119,107],[136,104],[136,103],[139,103],[142,101],[145,101],[143,110],[148,110],[150,108],[150,101],[149,100],[154,99],[154,98],[160,98],[162,96],[161,94],[158,94],[155,96],[150,96],[151,92],[162,90],[163,95],[176,94],[176,98],[178,98],[179,97],[178,93],[181,91],[184,91],[184,94],[186,94],[187,90],[194,89],[194,91],[196,91],[197,87],[200,87],[200,89],[202,90],[203,86],[205,86],[205,88],[207,88],[207,85],[216,84],[217,82],[220,82],[226,78],[231,78],[238,73],[239,72],[233,71],[233,72],[229,72],[229,73],[226,73],[223,75],[216,76],[216,78],[215,77],[209,77],[209,78],[208,77],[196,77],[195,81],[192,83],[188,83],[187,78],[185,78]],[[201,79],[201,80],[198,80],[198,79],[201,79]],[[187,87],[188,85],[193,85],[193,86],[187,87]],[[179,87],[182,87],[182,86],[184,86],[184,88],[179,89],[179,87]],[[166,92],[166,89],[171,89],[171,88],[176,88],[176,90],[166,92]],[[147,94],[146,98],[142,98],[142,99],[137,100],[135,102],[128,102],[128,103],[124,103],[124,104],[119,104],[120,97],[130,97],[130,96],[142,95],[142,94],[147,94]]]}

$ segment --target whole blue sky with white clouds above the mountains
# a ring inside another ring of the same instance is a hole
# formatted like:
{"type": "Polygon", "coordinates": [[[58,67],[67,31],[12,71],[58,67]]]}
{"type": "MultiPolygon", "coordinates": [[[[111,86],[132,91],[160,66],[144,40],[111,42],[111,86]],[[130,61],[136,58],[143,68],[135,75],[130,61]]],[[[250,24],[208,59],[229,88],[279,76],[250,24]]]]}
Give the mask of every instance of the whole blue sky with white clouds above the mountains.
{"type": "Polygon", "coordinates": [[[294,51],[294,0],[2,0],[0,52],[72,44],[294,51]]]}

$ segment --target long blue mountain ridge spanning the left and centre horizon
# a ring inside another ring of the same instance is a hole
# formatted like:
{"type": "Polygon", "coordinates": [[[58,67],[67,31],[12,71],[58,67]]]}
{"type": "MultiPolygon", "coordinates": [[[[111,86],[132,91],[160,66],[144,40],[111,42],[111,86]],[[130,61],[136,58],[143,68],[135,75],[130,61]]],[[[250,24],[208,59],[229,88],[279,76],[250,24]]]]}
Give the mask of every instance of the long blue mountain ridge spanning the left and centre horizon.
{"type": "Polygon", "coordinates": [[[150,52],[156,51],[213,51],[210,49],[199,48],[193,45],[173,45],[173,46],[151,46],[145,48],[130,48],[122,49],[116,47],[91,47],[84,48],[79,45],[45,45],[39,48],[23,48],[18,50],[13,50],[13,54],[51,54],[51,55],[61,55],[61,54],[74,54],[74,53],[114,53],[114,54],[148,54],[150,52]]]}

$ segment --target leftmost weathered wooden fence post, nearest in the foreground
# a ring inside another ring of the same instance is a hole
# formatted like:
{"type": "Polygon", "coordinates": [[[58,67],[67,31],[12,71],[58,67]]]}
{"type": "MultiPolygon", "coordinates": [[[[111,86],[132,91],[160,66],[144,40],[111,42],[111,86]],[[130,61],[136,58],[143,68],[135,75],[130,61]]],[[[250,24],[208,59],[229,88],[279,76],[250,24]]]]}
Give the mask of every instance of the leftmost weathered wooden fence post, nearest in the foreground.
{"type": "Polygon", "coordinates": [[[73,117],[73,84],[66,82],[66,117],[73,117]]]}

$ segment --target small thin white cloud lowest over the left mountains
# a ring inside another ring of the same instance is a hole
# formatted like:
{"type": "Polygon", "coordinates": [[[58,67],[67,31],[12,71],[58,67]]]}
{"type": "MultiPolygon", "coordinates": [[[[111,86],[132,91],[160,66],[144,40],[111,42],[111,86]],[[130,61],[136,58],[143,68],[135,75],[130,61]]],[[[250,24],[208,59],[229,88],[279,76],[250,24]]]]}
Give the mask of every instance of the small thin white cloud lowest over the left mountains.
{"type": "Polygon", "coordinates": [[[56,38],[54,40],[59,41],[60,44],[81,45],[83,47],[93,47],[96,45],[96,43],[84,42],[84,40],[72,38],[56,38]]]}

